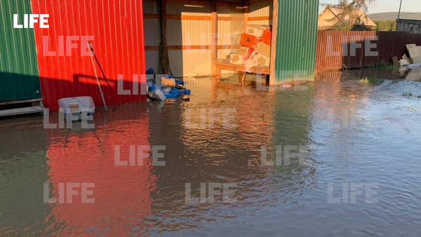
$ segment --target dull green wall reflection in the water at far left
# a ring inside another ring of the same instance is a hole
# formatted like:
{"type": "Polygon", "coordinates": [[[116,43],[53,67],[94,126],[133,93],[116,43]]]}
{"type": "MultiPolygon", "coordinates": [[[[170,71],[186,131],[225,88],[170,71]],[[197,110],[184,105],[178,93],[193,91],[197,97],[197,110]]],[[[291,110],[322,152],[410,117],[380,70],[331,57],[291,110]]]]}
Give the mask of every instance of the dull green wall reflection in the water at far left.
{"type": "Polygon", "coordinates": [[[0,120],[0,235],[39,227],[48,205],[43,183],[48,180],[46,133],[42,118],[0,120]]]}

